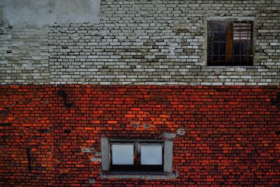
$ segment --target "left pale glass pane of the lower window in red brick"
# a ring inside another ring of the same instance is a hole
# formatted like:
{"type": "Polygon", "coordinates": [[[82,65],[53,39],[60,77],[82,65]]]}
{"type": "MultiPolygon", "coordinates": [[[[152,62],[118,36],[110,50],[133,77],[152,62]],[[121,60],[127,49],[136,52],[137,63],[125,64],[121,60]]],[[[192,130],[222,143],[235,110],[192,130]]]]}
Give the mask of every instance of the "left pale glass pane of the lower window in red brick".
{"type": "Polygon", "coordinates": [[[113,165],[133,165],[134,144],[112,144],[113,165]]]}

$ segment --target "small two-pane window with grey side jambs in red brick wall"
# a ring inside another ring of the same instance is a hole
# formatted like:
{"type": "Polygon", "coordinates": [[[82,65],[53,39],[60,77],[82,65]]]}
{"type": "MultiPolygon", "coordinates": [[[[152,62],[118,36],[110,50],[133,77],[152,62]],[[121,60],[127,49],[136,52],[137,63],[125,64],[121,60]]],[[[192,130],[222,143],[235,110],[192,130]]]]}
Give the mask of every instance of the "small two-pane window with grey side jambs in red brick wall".
{"type": "Polygon", "coordinates": [[[110,174],[171,173],[172,147],[172,140],[102,138],[102,171],[110,174]]]}

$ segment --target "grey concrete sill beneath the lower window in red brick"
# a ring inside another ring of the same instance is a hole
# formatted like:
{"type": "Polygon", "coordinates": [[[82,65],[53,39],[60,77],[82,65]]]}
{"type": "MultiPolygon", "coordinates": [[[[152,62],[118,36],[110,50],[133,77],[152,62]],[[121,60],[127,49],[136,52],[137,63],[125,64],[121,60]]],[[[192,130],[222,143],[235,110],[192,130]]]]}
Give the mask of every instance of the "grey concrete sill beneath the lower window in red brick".
{"type": "Polygon", "coordinates": [[[117,171],[102,171],[102,178],[117,178],[117,179],[176,179],[176,172],[117,172],[117,171]]]}

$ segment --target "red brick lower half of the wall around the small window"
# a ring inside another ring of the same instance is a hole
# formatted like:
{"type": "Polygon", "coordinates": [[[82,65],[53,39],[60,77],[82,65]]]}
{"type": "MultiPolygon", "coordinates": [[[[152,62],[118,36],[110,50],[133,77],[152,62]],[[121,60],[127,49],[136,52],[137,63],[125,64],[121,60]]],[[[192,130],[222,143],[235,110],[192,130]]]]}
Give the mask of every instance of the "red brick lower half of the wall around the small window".
{"type": "Polygon", "coordinates": [[[1,86],[0,184],[280,185],[279,92],[279,86],[1,86]],[[156,139],[165,132],[176,134],[177,179],[99,177],[100,137],[156,139]]]}

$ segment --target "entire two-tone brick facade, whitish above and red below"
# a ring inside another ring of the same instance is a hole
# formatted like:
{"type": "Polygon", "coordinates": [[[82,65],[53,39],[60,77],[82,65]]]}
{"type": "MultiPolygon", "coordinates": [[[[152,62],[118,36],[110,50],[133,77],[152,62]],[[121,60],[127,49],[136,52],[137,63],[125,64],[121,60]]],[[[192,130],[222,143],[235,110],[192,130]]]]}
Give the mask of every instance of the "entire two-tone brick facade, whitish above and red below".
{"type": "Polygon", "coordinates": [[[5,7],[0,186],[280,185],[279,0],[102,0],[47,25],[5,7]],[[207,66],[212,18],[253,20],[253,66],[207,66]],[[102,176],[102,137],[166,134],[174,177],[102,176]]]}

